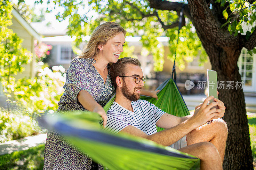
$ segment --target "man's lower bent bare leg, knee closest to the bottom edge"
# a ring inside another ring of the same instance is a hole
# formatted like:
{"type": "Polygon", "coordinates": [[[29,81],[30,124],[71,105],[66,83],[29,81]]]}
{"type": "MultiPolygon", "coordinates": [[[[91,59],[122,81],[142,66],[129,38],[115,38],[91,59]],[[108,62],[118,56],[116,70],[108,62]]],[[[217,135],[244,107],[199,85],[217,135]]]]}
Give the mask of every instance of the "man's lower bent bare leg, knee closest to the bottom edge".
{"type": "Polygon", "coordinates": [[[179,149],[181,152],[186,152],[200,159],[200,169],[222,169],[220,154],[216,147],[210,142],[200,142],[191,144],[179,149]]]}

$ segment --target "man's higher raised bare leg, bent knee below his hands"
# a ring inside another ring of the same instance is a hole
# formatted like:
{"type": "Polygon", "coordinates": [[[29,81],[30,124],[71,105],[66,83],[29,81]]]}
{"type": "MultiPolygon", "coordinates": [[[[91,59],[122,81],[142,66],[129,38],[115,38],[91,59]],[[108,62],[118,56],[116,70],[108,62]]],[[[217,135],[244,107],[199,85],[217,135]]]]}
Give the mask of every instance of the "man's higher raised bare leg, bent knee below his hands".
{"type": "Polygon", "coordinates": [[[227,124],[222,119],[214,119],[211,124],[204,124],[188,133],[187,144],[211,142],[220,153],[221,163],[223,163],[227,136],[227,124]]]}

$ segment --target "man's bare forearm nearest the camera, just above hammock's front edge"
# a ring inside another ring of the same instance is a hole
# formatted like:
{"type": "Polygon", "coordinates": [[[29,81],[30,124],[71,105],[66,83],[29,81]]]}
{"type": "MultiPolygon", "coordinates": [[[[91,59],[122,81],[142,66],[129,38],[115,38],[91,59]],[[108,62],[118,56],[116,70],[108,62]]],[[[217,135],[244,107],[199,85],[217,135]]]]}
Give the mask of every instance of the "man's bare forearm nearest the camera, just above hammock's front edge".
{"type": "Polygon", "coordinates": [[[152,140],[158,144],[170,146],[171,144],[177,142],[180,138],[184,137],[190,131],[192,131],[196,128],[197,127],[192,122],[192,120],[187,119],[184,122],[181,122],[180,124],[178,124],[172,128],[165,129],[165,130],[157,132],[153,135],[149,135],[146,138],[149,140],[152,140]]]}

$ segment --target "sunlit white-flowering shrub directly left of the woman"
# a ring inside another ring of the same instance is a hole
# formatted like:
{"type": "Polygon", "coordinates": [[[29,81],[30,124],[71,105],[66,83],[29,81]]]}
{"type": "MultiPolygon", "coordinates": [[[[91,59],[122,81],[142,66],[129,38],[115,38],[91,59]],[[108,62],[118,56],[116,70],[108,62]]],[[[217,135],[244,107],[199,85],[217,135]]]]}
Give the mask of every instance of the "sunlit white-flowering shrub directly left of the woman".
{"type": "Polygon", "coordinates": [[[14,87],[15,100],[27,106],[32,115],[56,111],[64,92],[64,72],[62,66],[53,66],[50,70],[44,65],[38,70],[36,77],[19,79],[14,87]]]}

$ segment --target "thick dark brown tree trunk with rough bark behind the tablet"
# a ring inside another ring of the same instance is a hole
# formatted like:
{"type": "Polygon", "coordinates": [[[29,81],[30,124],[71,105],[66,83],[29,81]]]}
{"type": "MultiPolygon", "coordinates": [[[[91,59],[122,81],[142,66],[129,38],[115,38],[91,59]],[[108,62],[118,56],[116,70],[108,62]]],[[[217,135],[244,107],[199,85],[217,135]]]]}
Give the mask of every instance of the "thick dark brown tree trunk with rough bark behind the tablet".
{"type": "Polygon", "coordinates": [[[241,88],[227,89],[227,81],[241,82],[237,61],[243,48],[242,35],[230,35],[214,16],[204,0],[188,0],[193,25],[206,53],[212,70],[217,71],[218,81],[224,81],[224,89],[218,89],[219,99],[226,111],[223,119],[228,125],[228,139],[223,169],[253,169],[252,150],[244,93],[241,88]]]}

